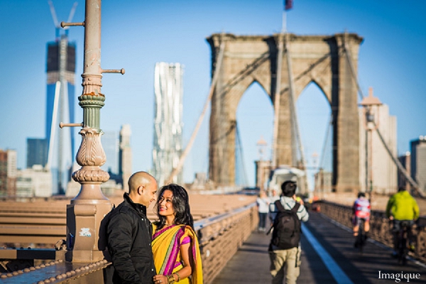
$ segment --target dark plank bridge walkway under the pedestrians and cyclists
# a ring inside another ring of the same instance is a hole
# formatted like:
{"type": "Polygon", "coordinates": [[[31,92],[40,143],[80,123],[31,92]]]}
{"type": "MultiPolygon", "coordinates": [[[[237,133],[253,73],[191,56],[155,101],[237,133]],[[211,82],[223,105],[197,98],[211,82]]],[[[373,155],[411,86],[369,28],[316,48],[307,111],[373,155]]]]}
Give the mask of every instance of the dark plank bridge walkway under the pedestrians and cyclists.
{"type": "MultiPolygon", "coordinates": [[[[214,280],[222,283],[271,283],[269,274],[268,242],[270,236],[253,233],[214,280]]],[[[391,258],[391,250],[368,241],[361,255],[354,249],[351,232],[337,226],[322,214],[310,212],[310,221],[305,223],[302,234],[302,265],[297,283],[383,283],[381,273],[420,273],[420,279],[410,283],[426,283],[426,266],[408,262],[398,266],[391,258]],[[307,238],[310,234],[312,238],[307,238]],[[317,253],[321,246],[326,253],[317,253]],[[315,248],[316,249],[315,249],[315,248]],[[325,258],[325,261],[322,260],[325,258]],[[327,263],[327,264],[325,264],[327,263]],[[327,267],[328,266],[328,267],[327,267]]],[[[406,280],[401,280],[406,282],[406,280]]]]}

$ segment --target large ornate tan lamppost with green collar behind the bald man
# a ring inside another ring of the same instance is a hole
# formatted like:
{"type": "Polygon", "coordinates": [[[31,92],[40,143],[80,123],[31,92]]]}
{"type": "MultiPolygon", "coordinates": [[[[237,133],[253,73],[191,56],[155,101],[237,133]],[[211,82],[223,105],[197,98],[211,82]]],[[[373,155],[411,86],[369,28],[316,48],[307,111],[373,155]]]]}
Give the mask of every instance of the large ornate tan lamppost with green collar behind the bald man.
{"type": "Polygon", "coordinates": [[[67,205],[67,252],[65,258],[73,262],[100,261],[104,258],[99,247],[100,224],[111,210],[112,204],[102,194],[101,184],[109,180],[109,174],[100,168],[107,160],[102,148],[100,110],[105,96],[101,92],[102,73],[124,74],[121,70],[101,68],[101,0],[86,0],[84,22],[61,23],[66,26],[84,26],[84,62],[82,73],[82,95],[78,97],[83,109],[82,143],[77,152],[77,163],[82,167],[72,174],[81,186],[78,195],[67,205]]]}

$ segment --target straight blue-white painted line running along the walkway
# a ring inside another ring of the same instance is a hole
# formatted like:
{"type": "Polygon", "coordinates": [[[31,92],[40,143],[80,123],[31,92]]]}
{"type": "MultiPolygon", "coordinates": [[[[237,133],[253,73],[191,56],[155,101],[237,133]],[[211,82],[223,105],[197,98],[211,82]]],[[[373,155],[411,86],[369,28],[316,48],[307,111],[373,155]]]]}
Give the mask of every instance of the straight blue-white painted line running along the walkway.
{"type": "Polygon", "coordinates": [[[327,251],[321,246],[321,244],[315,239],[315,236],[307,229],[305,224],[302,224],[302,232],[306,237],[307,241],[310,242],[311,246],[315,249],[318,256],[322,259],[322,262],[327,266],[327,269],[332,274],[334,280],[339,284],[353,284],[349,277],[342,271],[342,268],[337,265],[336,261],[327,251]]]}

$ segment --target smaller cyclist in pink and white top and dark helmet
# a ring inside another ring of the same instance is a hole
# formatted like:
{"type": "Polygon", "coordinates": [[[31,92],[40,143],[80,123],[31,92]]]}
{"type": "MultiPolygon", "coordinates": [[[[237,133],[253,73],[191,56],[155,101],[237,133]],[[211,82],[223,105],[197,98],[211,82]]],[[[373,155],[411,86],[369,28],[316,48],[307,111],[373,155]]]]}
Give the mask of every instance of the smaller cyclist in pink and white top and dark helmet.
{"type": "Polygon", "coordinates": [[[370,202],[366,199],[366,195],[364,192],[359,192],[358,198],[354,202],[354,206],[352,207],[352,224],[354,225],[354,237],[355,244],[354,247],[358,247],[358,231],[359,224],[361,219],[364,219],[364,240],[366,241],[368,237],[368,231],[370,231],[370,202]]]}

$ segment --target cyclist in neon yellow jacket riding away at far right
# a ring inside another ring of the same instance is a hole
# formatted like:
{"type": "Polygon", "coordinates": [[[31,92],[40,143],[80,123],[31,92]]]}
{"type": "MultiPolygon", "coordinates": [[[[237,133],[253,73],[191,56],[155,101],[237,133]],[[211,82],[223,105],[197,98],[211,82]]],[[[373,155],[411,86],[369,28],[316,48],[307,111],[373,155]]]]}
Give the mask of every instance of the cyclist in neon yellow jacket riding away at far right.
{"type": "MultiPolygon", "coordinates": [[[[393,221],[393,253],[392,256],[398,256],[398,232],[401,222],[409,222],[410,226],[414,224],[419,217],[420,210],[415,199],[405,187],[400,187],[395,195],[392,195],[386,206],[386,217],[393,221]]],[[[409,229],[408,243],[410,249],[414,249],[411,243],[411,229],[409,229]]]]}

